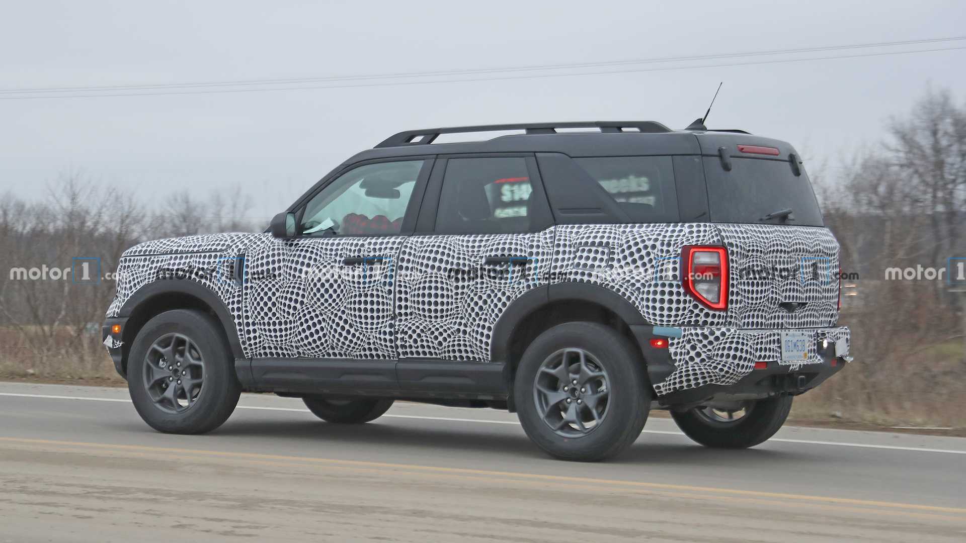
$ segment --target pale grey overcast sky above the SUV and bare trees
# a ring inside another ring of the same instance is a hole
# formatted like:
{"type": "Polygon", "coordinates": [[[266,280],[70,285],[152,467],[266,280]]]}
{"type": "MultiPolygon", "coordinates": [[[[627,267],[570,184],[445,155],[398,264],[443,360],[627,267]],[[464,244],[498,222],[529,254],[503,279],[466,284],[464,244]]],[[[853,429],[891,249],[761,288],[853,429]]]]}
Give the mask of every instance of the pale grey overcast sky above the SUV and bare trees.
{"type": "MultiPolygon", "coordinates": [[[[0,89],[505,69],[956,36],[966,36],[966,2],[956,0],[38,0],[5,7],[0,89]]],[[[0,192],[39,197],[71,170],[146,200],[179,188],[207,196],[237,183],[256,202],[250,215],[268,217],[343,159],[398,130],[629,119],[684,128],[704,113],[722,80],[711,128],[789,140],[812,163],[835,160],[880,139],[888,117],[907,111],[927,85],[964,100],[966,49],[654,69],[952,46],[966,41],[502,71],[463,82],[374,79],[367,81],[377,85],[341,89],[0,100],[0,192]],[[506,78],[614,70],[622,72],[506,78]]],[[[13,96],[24,95],[0,99],[13,96]]]]}

